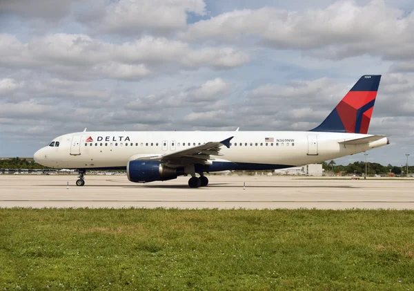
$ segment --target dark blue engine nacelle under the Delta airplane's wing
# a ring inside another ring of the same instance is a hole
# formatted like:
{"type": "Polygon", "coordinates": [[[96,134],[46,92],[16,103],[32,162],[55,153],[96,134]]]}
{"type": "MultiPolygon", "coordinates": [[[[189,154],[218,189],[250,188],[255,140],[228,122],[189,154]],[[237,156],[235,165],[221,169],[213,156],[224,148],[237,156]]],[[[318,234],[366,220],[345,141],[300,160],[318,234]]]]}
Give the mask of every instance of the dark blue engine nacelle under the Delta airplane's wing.
{"type": "Polygon", "coordinates": [[[165,181],[177,178],[181,171],[166,167],[155,160],[130,160],[126,166],[128,180],[131,182],[165,181]]]}

